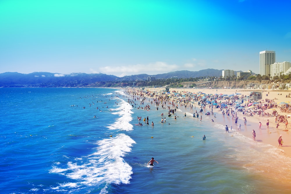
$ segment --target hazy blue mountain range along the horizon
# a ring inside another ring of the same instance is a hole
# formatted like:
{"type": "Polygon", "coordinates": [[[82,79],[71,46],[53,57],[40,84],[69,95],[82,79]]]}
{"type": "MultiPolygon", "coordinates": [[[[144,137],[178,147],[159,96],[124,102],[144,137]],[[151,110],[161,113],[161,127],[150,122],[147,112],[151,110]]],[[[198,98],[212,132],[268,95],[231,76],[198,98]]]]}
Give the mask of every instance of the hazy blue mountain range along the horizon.
{"type": "MultiPolygon", "coordinates": [[[[236,72],[235,72],[236,74],[236,72]]],[[[205,69],[200,71],[175,71],[164,74],[148,75],[138,74],[131,76],[118,77],[102,73],[86,74],[86,73],[49,73],[49,72],[33,72],[22,74],[17,72],[5,72],[0,74],[0,87],[84,87],[96,82],[107,81],[136,81],[147,80],[147,77],[153,76],[155,79],[168,79],[171,77],[178,78],[196,78],[215,76],[220,77],[222,70],[205,69]]]]}

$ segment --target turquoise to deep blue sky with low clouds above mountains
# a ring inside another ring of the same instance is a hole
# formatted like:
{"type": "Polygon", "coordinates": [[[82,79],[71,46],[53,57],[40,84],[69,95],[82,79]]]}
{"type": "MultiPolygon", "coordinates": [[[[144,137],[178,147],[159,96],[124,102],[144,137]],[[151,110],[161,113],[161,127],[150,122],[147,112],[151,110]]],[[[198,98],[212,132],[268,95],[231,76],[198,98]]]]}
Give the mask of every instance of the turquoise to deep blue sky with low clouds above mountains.
{"type": "Polygon", "coordinates": [[[291,61],[291,1],[0,0],[0,73],[259,73],[291,61]]]}

